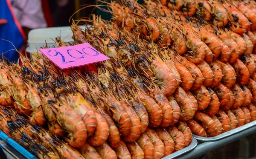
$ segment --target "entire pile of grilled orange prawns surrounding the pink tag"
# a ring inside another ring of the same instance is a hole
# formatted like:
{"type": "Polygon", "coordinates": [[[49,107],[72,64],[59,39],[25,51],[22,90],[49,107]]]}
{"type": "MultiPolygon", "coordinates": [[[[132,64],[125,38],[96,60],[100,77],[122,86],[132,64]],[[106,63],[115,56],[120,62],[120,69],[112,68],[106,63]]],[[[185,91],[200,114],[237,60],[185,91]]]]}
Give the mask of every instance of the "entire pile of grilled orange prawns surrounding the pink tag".
{"type": "Polygon", "coordinates": [[[22,65],[0,61],[9,137],[40,159],[160,159],[192,133],[256,119],[254,1],[102,3],[111,21],[73,21],[74,42],[55,43],[90,43],[109,61],[64,70],[38,52],[20,55],[22,65]]]}

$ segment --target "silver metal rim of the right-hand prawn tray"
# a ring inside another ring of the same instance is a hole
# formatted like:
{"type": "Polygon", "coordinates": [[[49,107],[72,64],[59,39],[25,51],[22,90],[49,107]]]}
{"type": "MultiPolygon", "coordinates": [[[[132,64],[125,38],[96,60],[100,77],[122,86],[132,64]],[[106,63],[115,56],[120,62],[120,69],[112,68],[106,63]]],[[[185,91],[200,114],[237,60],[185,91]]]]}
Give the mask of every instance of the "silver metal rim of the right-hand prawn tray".
{"type": "Polygon", "coordinates": [[[227,131],[225,133],[222,133],[222,134],[220,134],[218,136],[214,136],[214,137],[201,137],[201,136],[193,134],[193,137],[195,139],[197,139],[198,141],[200,141],[200,142],[213,142],[213,141],[217,141],[217,140],[220,140],[220,139],[224,139],[224,138],[226,138],[228,136],[231,136],[233,134],[239,133],[239,132],[244,131],[244,130],[246,130],[246,129],[250,128],[250,127],[253,127],[253,126],[256,126],[256,121],[252,121],[252,122],[250,122],[248,124],[245,124],[245,125],[243,125],[241,127],[237,127],[236,129],[233,129],[233,130],[227,131]]]}

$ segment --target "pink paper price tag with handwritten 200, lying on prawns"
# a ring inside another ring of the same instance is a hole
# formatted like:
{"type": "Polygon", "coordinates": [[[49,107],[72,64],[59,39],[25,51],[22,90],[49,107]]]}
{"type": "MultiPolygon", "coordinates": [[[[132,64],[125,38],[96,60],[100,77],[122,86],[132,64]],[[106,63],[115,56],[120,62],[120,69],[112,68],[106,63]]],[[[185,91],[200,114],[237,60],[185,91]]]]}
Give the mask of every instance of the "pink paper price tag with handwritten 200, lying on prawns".
{"type": "Polygon", "coordinates": [[[69,69],[109,60],[107,56],[98,52],[89,43],[39,50],[61,69],[69,69]]]}

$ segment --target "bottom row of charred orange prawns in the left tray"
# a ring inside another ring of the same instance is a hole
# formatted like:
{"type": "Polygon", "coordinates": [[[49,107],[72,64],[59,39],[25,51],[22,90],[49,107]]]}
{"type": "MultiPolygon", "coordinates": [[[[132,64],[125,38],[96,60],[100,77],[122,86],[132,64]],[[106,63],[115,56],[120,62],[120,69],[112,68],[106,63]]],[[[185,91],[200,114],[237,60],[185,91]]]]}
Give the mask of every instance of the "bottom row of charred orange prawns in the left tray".
{"type": "Polygon", "coordinates": [[[132,143],[120,141],[119,147],[111,148],[107,142],[92,147],[84,144],[79,151],[51,136],[47,130],[33,124],[5,107],[0,107],[0,129],[39,159],[153,159],[167,156],[189,145],[192,132],[185,122],[175,126],[147,128],[132,143]]]}

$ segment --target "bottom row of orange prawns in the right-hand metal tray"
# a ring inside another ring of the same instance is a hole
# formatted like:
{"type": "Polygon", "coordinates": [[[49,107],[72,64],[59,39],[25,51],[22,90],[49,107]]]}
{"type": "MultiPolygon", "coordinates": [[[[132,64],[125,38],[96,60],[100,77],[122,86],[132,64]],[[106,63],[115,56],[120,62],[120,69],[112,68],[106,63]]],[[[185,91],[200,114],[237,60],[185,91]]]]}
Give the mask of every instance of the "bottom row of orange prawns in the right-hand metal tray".
{"type": "Polygon", "coordinates": [[[212,137],[233,130],[256,120],[256,107],[250,103],[246,107],[218,110],[213,116],[197,112],[193,119],[186,121],[192,133],[202,137],[212,137]]]}

